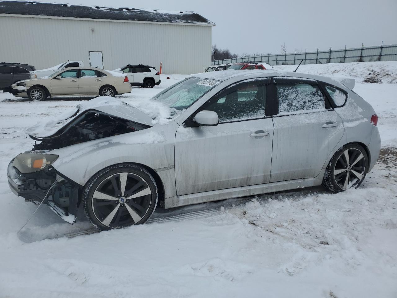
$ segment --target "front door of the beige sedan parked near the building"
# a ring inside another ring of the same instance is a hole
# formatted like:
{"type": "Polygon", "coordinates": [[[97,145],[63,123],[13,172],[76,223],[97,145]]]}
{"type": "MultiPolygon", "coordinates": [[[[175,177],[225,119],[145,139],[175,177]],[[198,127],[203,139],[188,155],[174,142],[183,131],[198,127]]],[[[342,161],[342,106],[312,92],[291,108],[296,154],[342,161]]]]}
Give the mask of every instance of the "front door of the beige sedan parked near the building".
{"type": "MultiPolygon", "coordinates": [[[[60,75],[60,79],[51,79],[51,91],[53,95],[78,95],[79,81],[77,75],[78,69],[66,70],[60,75]]],[[[57,75],[58,77],[58,75],[57,75]]]]}

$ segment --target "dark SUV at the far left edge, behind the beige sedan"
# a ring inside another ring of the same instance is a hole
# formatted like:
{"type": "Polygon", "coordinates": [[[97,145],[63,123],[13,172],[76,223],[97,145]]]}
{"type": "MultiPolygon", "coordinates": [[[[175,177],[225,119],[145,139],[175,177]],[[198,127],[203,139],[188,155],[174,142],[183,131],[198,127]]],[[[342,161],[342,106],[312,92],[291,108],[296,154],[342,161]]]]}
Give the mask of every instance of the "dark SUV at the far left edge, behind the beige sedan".
{"type": "Polygon", "coordinates": [[[36,70],[34,66],[21,63],[0,63],[0,89],[11,92],[11,85],[17,81],[30,79],[29,73],[36,70]]]}

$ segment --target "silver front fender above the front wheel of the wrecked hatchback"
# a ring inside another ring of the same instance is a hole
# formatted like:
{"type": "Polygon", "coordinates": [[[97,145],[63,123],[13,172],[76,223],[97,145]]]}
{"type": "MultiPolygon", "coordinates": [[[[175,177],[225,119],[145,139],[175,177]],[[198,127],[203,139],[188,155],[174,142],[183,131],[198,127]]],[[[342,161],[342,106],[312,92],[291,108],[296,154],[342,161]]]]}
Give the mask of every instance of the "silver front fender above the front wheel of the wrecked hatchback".
{"type": "MultiPolygon", "coordinates": [[[[166,125],[164,127],[168,127],[166,125]]],[[[52,166],[84,186],[98,171],[118,163],[140,163],[152,169],[174,165],[175,132],[149,128],[52,150],[52,166]]]]}

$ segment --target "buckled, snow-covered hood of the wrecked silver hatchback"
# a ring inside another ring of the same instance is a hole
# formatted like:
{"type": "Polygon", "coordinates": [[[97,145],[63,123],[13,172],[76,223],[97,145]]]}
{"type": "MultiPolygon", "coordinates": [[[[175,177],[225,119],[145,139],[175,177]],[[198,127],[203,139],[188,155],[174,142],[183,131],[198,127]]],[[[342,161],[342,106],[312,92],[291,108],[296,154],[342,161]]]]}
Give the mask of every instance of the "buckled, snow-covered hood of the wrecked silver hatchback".
{"type": "Polygon", "coordinates": [[[112,97],[96,97],[90,101],[78,104],[76,108],[68,110],[54,118],[40,120],[31,128],[28,128],[25,133],[33,137],[50,137],[86,110],[97,110],[115,117],[150,126],[152,122],[152,119],[141,110],[112,97]]]}

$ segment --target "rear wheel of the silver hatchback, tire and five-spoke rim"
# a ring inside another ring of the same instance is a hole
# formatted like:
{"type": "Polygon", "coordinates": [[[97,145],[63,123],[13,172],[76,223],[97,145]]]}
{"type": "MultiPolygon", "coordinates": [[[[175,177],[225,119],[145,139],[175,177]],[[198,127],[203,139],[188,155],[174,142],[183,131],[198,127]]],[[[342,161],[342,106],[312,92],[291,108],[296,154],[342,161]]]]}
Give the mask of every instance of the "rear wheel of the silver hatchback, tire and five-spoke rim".
{"type": "Polygon", "coordinates": [[[368,155],[362,146],[357,143],[345,145],[328,163],[322,185],[331,192],[358,188],[368,172],[368,164],[368,155]]]}

